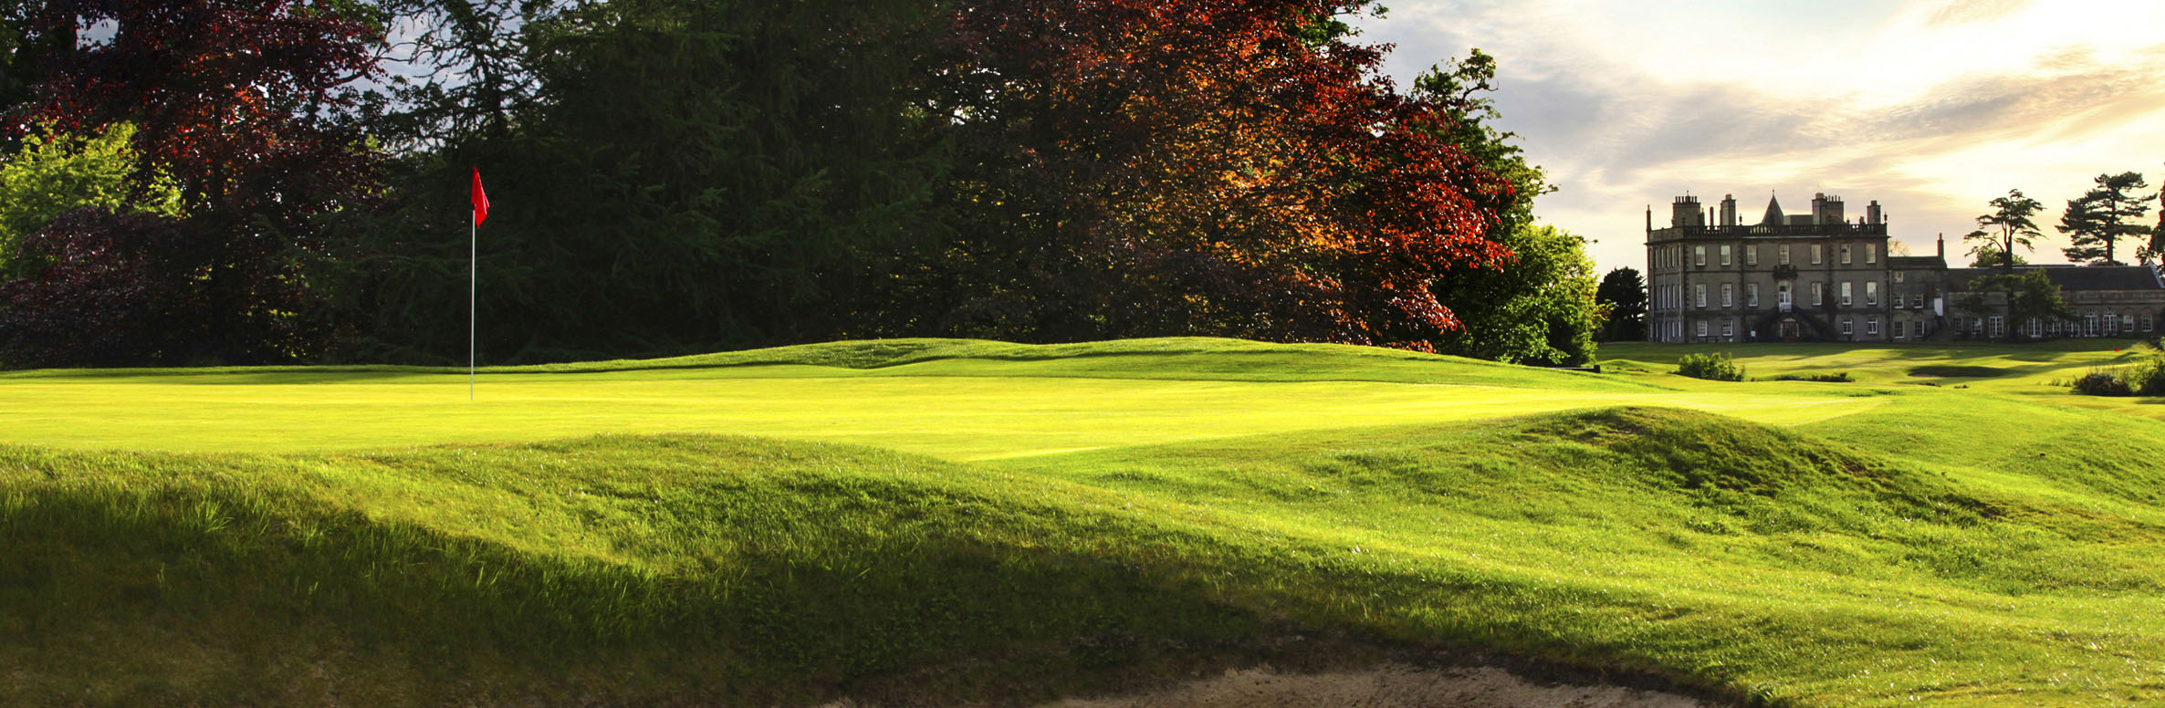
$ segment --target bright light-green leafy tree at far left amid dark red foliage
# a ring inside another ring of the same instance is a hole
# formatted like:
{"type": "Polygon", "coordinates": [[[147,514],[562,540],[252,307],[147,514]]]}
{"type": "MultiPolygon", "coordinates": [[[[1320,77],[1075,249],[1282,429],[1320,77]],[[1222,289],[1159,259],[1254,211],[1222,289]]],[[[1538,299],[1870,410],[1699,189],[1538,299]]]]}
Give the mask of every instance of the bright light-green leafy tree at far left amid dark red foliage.
{"type": "Polygon", "coordinates": [[[89,139],[45,132],[0,158],[0,281],[24,277],[35,262],[15,258],[26,236],[78,208],[108,212],[180,214],[180,191],[171,180],[152,178],[141,188],[134,126],[115,123],[89,139]]]}

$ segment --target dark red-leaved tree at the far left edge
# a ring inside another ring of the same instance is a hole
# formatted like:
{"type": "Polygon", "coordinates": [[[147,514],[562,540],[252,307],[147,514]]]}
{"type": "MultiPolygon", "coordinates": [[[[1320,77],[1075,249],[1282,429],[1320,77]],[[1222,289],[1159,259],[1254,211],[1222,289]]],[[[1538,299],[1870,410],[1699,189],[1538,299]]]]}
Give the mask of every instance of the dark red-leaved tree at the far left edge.
{"type": "MultiPolygon", "coordinates": [[[[13,130],[54,126],[63,134],[95,134],[110,123],[134,123],[141,171],[180,186],[184,223],[106,219],[93,227],[78,219],[39,238],[43,251],[32,253],[26,240],[22,255],[52,266],[32,273],[35,284],[6,288],[17,299],[0,307],[15,310],[15,323],[52,320],[35,310],[69,301],[69,288],[87,279],[67,273],[97,271],[100,264],[84,260],[104,258],[113,262],[100,271],[108,275],[100,279],[106,286],[80,292],[80,301],[117,303],[117,310],[93,320],[152,312],[201,318],[169,320],[165,327],[193,340],[143,351],[139,362],[171,359],[173,351],[186,351],[191,362],[232,364],[318,353],[327,342],[292,336],[294,320],[314,307],[305,264],[323,251],[316,217],[366,199],[379,171],[359,126],[346,119],[357,100],[353,87],[381,74],[381,37],[364,19],[359,4],[340,0],[43,2],[32,30],[74,41],[43,56],[43,80],[11,117],[13,130]],[[165,230],[188,238],[173,245],[165,230]],[[91,236],[95,242],[63,242],[91,236]],[[165,253],[128,253],[147,245],[165,253]],[[134,266],[169,262],[175,247],[193,249],[178,258],[195,264],[191,271],[134,266]],[[65,258],[52,260],[58,255],[65,258]],[[169,281],[110,284],[128,273],[169,281]],[[169,286],[191,288],[191,301],[201,307],[119,305],[126,292],[173,297],[169,286]]],[[[89,333],[65,327],[0,331],[0,338],[52,336],[89,333]]],[[[48,351],[74,349],[52,342],[48,351]]],[[[128,355],[100,357],[100,364],[126,362],[128,355]]]]}

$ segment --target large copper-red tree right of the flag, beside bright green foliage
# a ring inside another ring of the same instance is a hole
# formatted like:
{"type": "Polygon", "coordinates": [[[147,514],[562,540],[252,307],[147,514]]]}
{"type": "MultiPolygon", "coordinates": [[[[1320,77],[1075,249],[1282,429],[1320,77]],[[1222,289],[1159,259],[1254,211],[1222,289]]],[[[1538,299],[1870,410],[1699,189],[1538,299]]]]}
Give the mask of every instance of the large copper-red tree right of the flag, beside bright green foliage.
{"type": "Polygon", "coordinates": [[[968,2],[931,54],[957,152],[953,333],[1431,349],[1431,286],[1509,255],[1511,184],[1379,76],[1360,0],[968,2]]]}

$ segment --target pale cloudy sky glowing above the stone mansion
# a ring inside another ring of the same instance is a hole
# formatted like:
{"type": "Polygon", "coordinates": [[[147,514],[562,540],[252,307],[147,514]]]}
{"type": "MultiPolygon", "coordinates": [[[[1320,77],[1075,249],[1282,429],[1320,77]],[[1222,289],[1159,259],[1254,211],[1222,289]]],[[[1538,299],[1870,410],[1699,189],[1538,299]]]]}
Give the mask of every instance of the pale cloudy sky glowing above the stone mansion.
{"type": "Polygon", "coordinates": [[[1961,266],[2009,188],[2044,204],[2026,258],[2065,262],[2068,199],[2100,173],[2165,182],[2161,0],[1381,2],[1355,26],[1394,45],[1401,89],[1496,56],[1496,126],[1559,186],[1535,217],[1596,240],[1602,273],[1643,273],[1645,208],[1667,227],[1687,193],[1736,195],[1747,223],[1769,195],[1838,195],[1851,221],[1877,199],[1910,253],[1946,234],[1961,266]]]}

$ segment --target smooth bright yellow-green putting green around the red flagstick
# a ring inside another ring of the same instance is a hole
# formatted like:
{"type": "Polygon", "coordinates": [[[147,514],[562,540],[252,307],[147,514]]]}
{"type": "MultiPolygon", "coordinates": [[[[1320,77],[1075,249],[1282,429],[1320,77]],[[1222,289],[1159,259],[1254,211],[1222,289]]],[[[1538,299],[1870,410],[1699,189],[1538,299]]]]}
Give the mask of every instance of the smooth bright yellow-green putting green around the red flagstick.
{"type": "Polygon", "coordinates": [[[730,433],[987,459],[1606,405],[1691,407],[1797,424],[1881,403],[1821,392],[1700,390],[1689,388],[1689,379],[1615,381],[1448,357],[1431,357],[1429,370],[1412,359],[1414,366],[1396,370],[1405,381],[1334,379],[1373,377],[1360,364],[1375,355],[1351,346],[1312,346],[1305,370],[1256,362],[1247,370],[1184,372],[1178,357],[1208,353],[1210,342],[1085,349],[1085,357],[1076,357],[1078,346],[1046,353],[1046,346],[972,344],[979,349],[959,351],[959,357],[877,368],[624,362],[589,370],[489,370],[478,377],[472,403],[463,372],[28,372],[0,377],[0,442],[292,453],[593,433],[730,433]],[[1048,370],[1046,362],[1063,366],[1048,370]]]}

